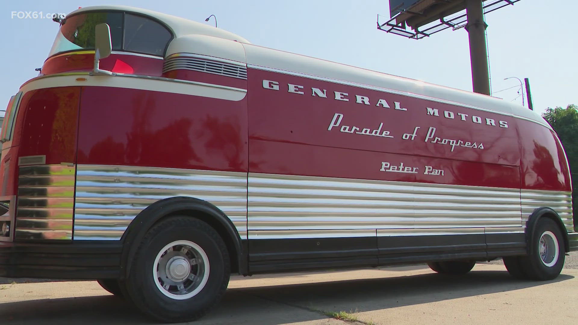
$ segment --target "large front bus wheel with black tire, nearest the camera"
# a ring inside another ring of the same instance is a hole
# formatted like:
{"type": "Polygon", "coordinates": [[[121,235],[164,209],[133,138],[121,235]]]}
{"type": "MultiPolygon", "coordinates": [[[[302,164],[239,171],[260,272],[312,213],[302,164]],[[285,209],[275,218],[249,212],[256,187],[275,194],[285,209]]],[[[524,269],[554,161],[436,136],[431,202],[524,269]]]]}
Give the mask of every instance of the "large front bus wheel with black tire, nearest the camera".
{"type": "Polygon", "coordinates": [[[124,285],[132,302],[143,313],[161,322],[190,322],[205,315],[218,303],[227,289],[230,275],[227,247],[212,227],[192,217],[170,217],[155,224],[144,236],[124,285]],[[182,242],[186,243],[179,244],[182,242]],[[171,246],[173,243],[176,244],[171,246]],[[170,248],[165,250],[166,247],[170,248]],[[194,258],[190,258],[191,255],[175,255],[193,253],[194,258]],[[171,259],[162,264],[169,257],[171,259]],[[189,274],[194,280],[187,277],[183,279],[184,282],[180,282],[180,287],[169,285],[173,281],[169,277],[169,270],[172,269],[169,266],[174,265],[171,264],[174,258],[181,258],[182,263],[190,263],[188,273],[180,268],[173,274],[189,274]],[[155,259],[158,260],[157,264],[155,259]],[[199,263],[192,262],[194,260],[199,263]],[[162,279],[166,282],[162,282],[162,279]],[[165,285],[168,288],[164,288],[165,285]]]}

